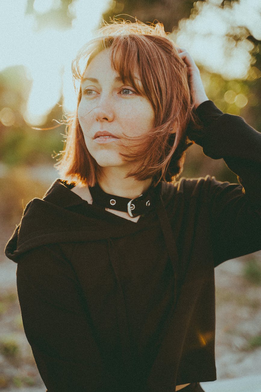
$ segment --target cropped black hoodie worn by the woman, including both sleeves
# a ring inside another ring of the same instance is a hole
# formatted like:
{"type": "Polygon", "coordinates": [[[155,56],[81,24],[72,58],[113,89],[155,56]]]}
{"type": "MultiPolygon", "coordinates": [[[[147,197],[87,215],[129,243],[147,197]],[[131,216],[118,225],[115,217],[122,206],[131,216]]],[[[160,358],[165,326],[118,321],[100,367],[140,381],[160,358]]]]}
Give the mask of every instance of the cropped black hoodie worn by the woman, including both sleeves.
{"type": "Polygon", "coordinates": [[[216,379],[214,267],[261,249],[261,134],[211,101],[189,138],[239,184],[161,183],[137,223],[56,180],[7,244],[25,334],[49,392],[175,391],[216,379]]]}

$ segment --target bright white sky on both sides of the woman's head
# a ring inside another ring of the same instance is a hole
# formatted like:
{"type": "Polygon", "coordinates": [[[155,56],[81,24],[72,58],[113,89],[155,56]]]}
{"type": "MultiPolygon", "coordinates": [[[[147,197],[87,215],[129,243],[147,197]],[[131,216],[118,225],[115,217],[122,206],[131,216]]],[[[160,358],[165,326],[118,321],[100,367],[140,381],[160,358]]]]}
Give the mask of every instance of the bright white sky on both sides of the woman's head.
{"type": "MultiPolygon", "coordinates": [[[[27,67],[33,80],[24,114],[28,123],[44,123],[61,91],[65,112],[73,111],[75,94],[71,61],[91,38],[111,1],[74,0],[68,10],[75,16],[71,28],[58,30],[48,26],[38,31],[35,15],[25,14],[27,0],[18,0],[15,6],[10,0],[1,0],[0,52],[4,55],[0,57],[0,71],[17,64],[27,67]]],[[[209,71],[228,79],[244,78],[252,61],[253,45],[246,39],[236,44],[232,36],[247,27],[255,38],[261,40],[261,0],[234,1],[232,7],[223,9],[219,8],[221,2],[196,2],[196,13],[180,21],[173,38],[209,71]]],[[[59,8],[60,3],[60,0],[34,0],[34,11],[44,14],[59,8]]]]}

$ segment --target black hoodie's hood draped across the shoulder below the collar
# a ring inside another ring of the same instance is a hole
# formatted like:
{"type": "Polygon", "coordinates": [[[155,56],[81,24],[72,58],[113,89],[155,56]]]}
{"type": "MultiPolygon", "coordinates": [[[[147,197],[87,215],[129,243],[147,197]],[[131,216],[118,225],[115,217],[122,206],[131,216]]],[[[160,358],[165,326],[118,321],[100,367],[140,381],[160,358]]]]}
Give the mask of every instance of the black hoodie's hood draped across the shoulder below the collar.
{"type": "MultiPolygon", "coordinates": [[[[173,193],[171,184],[162,182],[160,194],[166,187],[171,187],[169,191],[172,192],[167,192],[164,204],[173,193]]],[[[27,204],[20,224],[5,247],[5,255],[18,262],[21,254],[41,245],[119,238],[153,224],[142,217],[137,223],[117,218],[110,212],[95,211],[92,205],[57,179],[42,199],[35,198],[27,204]],[[83,210],[85,214],[81,212],[83,210]]]]}

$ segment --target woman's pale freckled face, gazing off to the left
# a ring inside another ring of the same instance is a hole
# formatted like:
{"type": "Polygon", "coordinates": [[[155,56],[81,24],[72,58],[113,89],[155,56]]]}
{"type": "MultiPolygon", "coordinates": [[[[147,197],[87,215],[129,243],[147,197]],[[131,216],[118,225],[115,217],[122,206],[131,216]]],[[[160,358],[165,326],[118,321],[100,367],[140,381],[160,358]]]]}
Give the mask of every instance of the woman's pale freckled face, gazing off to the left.
{"type": "Polygon", "coordinates": [[[119,154],[121,143],[130,145],[124,134],[142,136],[152,129],[155,116],[148,98],[122,82],[111,67],[110,49],[90,62],[81,91],[78,119],[88,151],[101,167],[130,167],[119,154]]]}

